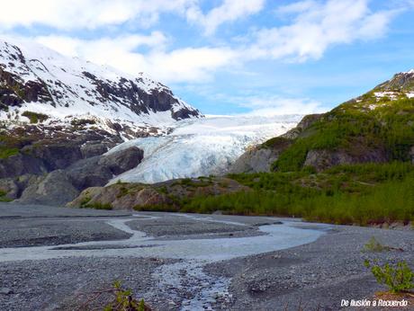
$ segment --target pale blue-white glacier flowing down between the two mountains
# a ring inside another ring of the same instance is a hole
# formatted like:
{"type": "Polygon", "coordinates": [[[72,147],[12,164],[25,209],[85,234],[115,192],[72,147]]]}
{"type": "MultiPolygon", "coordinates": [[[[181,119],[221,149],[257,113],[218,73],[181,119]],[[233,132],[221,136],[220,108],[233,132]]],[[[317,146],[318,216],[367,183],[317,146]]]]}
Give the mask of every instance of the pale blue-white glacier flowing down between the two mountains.
{"type": "Polygon", "coordinates": [[[155,183],[186,177],[220,175],[248,147],[293,129],[302,115],[207,116],[181,120],[165,136],[137,138],[112,148],[112,153],[136,146],[143,161],[112,179],[114,182],[155,183]]]}

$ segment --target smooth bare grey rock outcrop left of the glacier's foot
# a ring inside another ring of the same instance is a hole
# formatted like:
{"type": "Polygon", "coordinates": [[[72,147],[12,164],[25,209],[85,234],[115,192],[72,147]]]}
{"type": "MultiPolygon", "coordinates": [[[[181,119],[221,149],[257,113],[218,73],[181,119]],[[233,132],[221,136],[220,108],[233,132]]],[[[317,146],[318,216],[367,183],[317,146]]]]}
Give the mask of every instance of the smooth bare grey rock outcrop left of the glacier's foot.
{"type": "Polygon", "coordinates": [[[110,155],[79,160],[64,170],[47,173],[45,168],[42,174],[26,173],[14,178],[0,179],[0,197],[6,200],[17,199],[23,204],[65,205],[85,188],[103,186],[114,175],[134,168],[142,158],[141,149],[130,147],[110,155]]]}

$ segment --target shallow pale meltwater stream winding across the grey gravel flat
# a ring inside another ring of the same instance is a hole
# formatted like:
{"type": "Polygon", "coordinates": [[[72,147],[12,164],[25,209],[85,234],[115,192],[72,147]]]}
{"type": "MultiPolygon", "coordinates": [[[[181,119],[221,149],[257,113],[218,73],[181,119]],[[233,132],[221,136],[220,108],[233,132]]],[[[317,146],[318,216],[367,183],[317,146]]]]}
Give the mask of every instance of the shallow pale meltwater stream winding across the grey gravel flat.
{"type": "MultiPolygon", "coordinates": [[[[177,215],[177,214],[175,214],[177,215]]],[[[203,222],[220,222],[247,226],[243,223],[225,221],[209,217],[181,214],[203,222]]],[[[134,215],[133,218],[110,218],[106,223],[121,231],[130,233],[129,239],[121,241],[99,241],[52,246],[32,246],[0,249],[0,262],[23,260],[47,260],[64,257],[158,257],[180,259],[179,262],[165,264],[154,272],[153,278],[159,290],[174,300],[181,299],[182,310],[205,310],[211,308],[216,298],[229,298],[229,279],[212,277],[203,271],[203,266],[211,262],[229,260],[236,257],[267,253],[314,242],[329,228],[327,225],[304,224],[285,221],[280,225],[258,227],[263,235],[247,237],[219,237],[157,240],[145,233],[132,230],[130,220],[153,219],[148,215],[134,215]],[[180,298],[183,290],[194,293],[191,298],[180,298]]],[[[275,218],[273,218],[275,220],[275,218]]]]}

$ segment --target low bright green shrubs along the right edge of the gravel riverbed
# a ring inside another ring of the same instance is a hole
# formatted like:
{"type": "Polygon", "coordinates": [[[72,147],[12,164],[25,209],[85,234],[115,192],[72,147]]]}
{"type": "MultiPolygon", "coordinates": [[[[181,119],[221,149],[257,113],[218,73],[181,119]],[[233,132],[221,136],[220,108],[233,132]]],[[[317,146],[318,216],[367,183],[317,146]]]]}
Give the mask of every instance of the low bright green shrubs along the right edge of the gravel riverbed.
{"type": "Polygon", "coordinates": [[[412,164],[356,164],[317,174],[242,173],[229,177],[251,191],[185,198],[178,203],[180,210],[222,210],[361,226],[414,220],[412,164]]]}

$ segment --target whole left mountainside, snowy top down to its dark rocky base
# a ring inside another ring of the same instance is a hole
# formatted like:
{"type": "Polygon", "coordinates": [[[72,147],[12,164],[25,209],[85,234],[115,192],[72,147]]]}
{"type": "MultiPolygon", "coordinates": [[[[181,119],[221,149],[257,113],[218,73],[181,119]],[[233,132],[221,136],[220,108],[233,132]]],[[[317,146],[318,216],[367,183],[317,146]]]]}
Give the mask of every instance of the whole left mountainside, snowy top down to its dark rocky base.
{"type": "Polygon", "coordinates": [[[0,40],[0,179],[12,179],[6,185],[166,133],[189,118],[202,114],[141,73],[123,75],[31,41],[0,40]]]}

